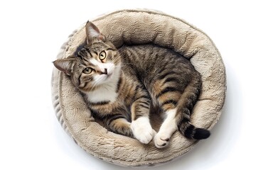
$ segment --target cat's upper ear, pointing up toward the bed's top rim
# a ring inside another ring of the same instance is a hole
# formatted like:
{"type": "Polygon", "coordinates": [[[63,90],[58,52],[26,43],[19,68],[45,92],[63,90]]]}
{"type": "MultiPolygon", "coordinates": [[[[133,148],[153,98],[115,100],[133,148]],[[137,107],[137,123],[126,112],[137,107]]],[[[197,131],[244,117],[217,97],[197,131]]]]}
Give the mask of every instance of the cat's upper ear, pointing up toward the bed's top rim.
{"type": "Polygon", "coordinates": [[[95,26],[92,22],[87,21],[85,26],[86,31],[86,42],[87,44],[90,44],[94,38],[97,38],[98,40],[102,40],[105,42],[106,38],[102,33],[100,33],[99,28],[95,26]]]}

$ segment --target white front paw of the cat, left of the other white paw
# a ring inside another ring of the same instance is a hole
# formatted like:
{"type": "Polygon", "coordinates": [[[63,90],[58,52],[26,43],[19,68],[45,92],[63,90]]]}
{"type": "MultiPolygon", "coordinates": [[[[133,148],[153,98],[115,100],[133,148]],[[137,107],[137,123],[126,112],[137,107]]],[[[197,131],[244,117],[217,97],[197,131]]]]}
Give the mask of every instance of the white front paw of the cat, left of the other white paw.
{"type": "Polygon", "coordinates": [[[154,137],[155,131],[151,128],[149,118],[142,117],[132,121],[131,124],[134,137],[144,144],[148,144],[154,137]]]}

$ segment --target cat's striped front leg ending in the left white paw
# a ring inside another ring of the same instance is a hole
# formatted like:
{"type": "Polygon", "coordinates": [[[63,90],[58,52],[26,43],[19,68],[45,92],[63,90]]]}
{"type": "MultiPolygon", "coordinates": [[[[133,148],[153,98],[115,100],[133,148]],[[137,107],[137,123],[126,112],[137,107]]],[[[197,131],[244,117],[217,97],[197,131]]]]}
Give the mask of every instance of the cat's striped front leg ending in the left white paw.
{"type": "Polygon", "coordinates": [[[131,108],[133,135],[140,142],[148,144],[156,133],[149,123],[149,100],[139,98],[131,108]]]}

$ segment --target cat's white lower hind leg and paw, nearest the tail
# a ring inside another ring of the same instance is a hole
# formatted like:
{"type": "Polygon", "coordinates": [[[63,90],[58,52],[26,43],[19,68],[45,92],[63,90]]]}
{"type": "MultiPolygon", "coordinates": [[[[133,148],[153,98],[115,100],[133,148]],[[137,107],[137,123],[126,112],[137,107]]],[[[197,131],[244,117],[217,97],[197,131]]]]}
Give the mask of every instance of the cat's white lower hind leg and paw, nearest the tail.
{"type": "Polygon", "coordinates": [[[177,130],[176,108],[166,111],[166,118],[162,123],[159,132],[154,136],[154,145],[163,148],[169,145],[171,135],[177,130]]]}

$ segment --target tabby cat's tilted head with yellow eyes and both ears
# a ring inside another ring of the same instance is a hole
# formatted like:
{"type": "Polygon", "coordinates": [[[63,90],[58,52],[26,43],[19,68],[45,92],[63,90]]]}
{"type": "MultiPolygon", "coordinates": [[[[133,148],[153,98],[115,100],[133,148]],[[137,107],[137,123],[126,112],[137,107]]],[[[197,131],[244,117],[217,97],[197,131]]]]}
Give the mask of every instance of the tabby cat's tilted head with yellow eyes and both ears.
{"type": "Polygon", "coordinates": [[[53,62],[83,92],[117,81],[121,66],[116,47],[93,23],[87,22],[85,31],[86,40],[78,47],[74,57],[53,62]]]}

